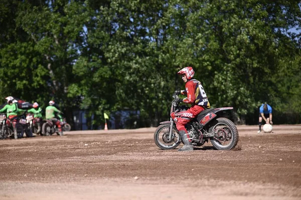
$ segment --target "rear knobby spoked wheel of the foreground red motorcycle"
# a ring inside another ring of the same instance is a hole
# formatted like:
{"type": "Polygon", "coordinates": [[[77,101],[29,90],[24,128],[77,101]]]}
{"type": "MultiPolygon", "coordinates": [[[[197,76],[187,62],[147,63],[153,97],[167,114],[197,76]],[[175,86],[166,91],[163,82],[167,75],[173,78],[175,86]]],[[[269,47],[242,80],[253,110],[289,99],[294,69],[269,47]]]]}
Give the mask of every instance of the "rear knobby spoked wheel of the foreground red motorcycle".
{"type": "Polygon", "coordinates": [[[238,142],[238,130],[236,125],[228,118],[216,119],[216,124],[210,127],[209,132],[214,134],[210,139],[212,145],[218,150],[230,150],[238,142]]]}

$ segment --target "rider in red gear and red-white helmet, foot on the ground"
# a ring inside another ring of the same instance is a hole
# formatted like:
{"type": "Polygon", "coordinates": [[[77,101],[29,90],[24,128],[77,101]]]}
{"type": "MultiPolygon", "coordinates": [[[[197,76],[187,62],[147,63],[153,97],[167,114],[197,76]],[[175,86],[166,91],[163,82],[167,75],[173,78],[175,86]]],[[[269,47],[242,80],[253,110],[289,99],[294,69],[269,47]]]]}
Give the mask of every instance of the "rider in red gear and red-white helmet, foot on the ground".
{"type": "Polygon", "coordinates": [[[176,118],[176,126],[179,130],[179,134],[183,140],[184,146],[179,148],[179,151],[193,150],[193,145],[185,124],[195,118],[205,108],[210,107],[206,92],[202,86],[202,83],[197,79],[192,79],[195,72],[191,66],[187,66],[178,71],[178,74],[182,74],[182,80],[185,82],[185,90],[175,91],[177,95],[187,95],[186,98],[179,98],[178,102],[190,103],[191,107],[182,114],[181,117],[176,118]]]}

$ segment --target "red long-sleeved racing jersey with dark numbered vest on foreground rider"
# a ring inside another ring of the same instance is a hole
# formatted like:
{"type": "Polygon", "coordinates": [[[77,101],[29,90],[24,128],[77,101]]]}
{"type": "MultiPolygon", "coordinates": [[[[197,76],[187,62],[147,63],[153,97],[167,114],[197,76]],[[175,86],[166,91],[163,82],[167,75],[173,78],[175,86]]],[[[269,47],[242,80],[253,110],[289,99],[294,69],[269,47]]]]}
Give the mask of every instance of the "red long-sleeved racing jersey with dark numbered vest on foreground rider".
{"type": "Polygon", "coordinates": [[[181,90],[181,94],[187,95],[183,102],[210,107],[206,92],[199,80],[190,79],[186,82],[185,87],[185,90],[181,90]]]}

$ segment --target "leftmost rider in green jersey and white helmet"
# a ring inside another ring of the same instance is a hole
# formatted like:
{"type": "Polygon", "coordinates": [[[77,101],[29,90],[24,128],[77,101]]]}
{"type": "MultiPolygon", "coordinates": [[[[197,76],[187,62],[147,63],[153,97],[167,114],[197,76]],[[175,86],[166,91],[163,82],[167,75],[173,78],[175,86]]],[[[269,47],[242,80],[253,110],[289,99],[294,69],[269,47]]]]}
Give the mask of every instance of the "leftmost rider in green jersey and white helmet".
{"type": "Polygon", "coordinates": [[[0,112],[7,111],[7,124],[11,124],[10,121],[13,123],[13,129],[14,129],[14,137],[15,139],[18,138],[17,136],[17,128],[16,128],[16,123],[17,123],[17,116],[18,116],[18,111],[26,111],[23,109],[18,109],[17,105],[17,100],[14,99],[13,96],[8,96],[5,98],[8,102],[2,109],[0,109],[0,112]]]}

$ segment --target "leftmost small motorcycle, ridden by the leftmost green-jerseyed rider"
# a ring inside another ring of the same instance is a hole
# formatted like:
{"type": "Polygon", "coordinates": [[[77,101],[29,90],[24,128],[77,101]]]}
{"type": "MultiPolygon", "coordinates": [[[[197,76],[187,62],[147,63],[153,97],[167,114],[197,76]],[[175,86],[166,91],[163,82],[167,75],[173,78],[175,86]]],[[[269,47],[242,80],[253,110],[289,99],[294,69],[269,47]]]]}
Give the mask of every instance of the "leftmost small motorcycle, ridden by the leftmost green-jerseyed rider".
{"type": "Polygon", "coordinates": [[[17,128],[17,137],[23,137],[24,129],[22,123],[24,123],[24,120],[21,120],[19,116],[16,116],[15,118],[18,118],[17,121],[14,121],[14,118],[7,118],[6,113],[0,113],[0,139],[5,139],[14,135],[14,124],[17,128]],[[20,121],[22,123],[20,123],[20,121]]]}

